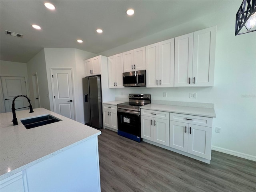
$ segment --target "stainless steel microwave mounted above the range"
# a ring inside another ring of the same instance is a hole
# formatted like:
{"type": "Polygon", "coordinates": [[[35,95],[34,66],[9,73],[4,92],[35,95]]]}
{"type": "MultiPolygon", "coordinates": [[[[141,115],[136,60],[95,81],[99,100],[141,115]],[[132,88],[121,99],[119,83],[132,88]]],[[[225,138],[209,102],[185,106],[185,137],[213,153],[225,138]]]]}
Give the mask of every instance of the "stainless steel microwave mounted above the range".
{"type": "Polygon", "coordinates": [[[146,86],[146,70],[123,73],[123,86],[137,87],[146,86]]]}

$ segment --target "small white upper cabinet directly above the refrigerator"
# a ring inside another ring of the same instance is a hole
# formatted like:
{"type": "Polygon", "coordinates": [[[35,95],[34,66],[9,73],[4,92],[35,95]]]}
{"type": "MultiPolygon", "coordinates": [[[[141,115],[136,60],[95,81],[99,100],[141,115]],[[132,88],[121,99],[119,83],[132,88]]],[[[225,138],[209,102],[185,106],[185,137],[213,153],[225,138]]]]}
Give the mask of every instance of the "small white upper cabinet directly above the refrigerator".
{"type": "Polygon", "coordinates": [[[84,60],[84,75],[93,76],[100,75],[101,67],[100,67],[100,56],[96,56],[94,58],[90,58],[84,60]]]}

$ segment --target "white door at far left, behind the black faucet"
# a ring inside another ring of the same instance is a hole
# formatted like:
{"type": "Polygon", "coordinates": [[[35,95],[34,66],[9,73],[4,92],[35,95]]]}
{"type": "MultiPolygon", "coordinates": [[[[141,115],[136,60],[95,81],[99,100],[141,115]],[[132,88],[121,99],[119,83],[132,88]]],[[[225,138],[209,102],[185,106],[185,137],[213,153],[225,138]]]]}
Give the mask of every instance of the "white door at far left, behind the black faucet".
{"type": "MultiPolygon", "coordinates": [[[[27,96],[25,77],[1,76],[1,83],[3,89],[5,111],[11,112],[13,98],[18,95],[27,96]]],[[[26,106],[29,106],[29,104],[25,97],[18,97],[15,100],[15,108],[17,110],[26,110],[28,108],[22,108],[26,106]]]]}

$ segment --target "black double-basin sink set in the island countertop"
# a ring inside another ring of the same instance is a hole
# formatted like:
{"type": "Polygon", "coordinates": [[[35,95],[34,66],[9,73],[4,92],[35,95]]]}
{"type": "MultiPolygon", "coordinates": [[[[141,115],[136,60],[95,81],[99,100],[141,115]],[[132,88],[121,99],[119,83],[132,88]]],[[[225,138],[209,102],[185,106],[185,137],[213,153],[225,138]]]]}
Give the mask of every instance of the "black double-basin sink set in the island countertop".
{"type": "Polygon", "coordinates": [[[22,122],[22,124],[26,127],[26,129],[39,127],[42,125],[47,125],[47,124],[55,123],[58,121],[61,121],[61,120],[49,114],[44,116],[37,116],[29,119],[26,118],[26,119],[20,120],[20,122],[22,122]]]}

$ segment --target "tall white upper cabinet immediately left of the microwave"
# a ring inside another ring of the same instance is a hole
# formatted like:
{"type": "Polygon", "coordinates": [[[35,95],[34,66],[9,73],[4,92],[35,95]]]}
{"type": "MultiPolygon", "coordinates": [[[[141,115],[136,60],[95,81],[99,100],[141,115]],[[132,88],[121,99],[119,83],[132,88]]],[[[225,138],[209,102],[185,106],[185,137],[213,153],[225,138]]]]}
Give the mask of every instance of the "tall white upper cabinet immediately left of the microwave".
{"type": "Polygon", "coordinates": [[[108,57],[108,87],[123,87],[123,54],[108,57]]]}

